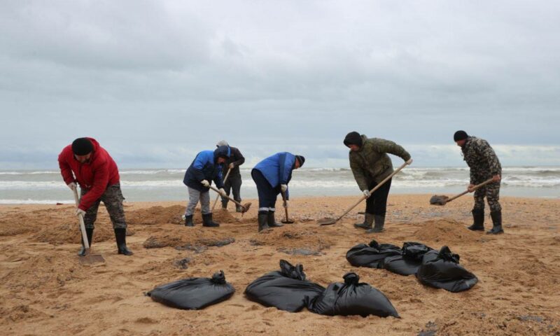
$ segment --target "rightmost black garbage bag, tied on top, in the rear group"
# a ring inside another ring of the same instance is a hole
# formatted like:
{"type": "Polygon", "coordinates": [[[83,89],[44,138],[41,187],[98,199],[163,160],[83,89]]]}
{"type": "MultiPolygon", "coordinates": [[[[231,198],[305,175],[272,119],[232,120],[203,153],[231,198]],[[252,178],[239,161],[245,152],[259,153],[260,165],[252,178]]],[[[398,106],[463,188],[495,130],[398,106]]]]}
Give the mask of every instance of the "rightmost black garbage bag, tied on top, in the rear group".
{"type": "Polygon", "coordinates": [[[439,252],[429,251],[423,256],[416,278],[427,286],[443,288],[450,292],[462,292],[478,282],[475,274],[459,265],[459,255],[443,246],[439,252]]]}

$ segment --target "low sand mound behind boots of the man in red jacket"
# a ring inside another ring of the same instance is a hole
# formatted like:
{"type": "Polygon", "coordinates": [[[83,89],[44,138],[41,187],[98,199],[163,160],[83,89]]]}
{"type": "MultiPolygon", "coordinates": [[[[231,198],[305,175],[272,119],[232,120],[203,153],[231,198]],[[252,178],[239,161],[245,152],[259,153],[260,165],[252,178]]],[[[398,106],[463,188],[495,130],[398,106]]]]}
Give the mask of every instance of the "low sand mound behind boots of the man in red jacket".
{"type": "MultiPolygon", "coordinates": [[[[55,225],[46,225],[31,239],[40,241],[41,243],[49,243],[53,245],[61,244],[81,244],[82,234],[78,223],[62,223],[55,225]]],[[[93,244],[100,241],[115,239],[113,224],[106,221],[95,222],[95,230],[93,232],[93,244]],[[104,223],[105,222],[105,223],[104,223]]]]}

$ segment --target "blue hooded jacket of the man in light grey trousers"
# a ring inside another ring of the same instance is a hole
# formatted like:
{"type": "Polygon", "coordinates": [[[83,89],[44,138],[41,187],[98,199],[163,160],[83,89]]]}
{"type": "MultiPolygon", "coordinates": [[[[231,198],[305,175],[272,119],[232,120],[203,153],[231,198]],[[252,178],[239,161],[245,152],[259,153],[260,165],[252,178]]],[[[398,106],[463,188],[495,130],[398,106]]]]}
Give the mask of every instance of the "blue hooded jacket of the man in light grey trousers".
{"type": "Polygon", "coordinates": [[[202,151],[197,154],[193,163],[185,172],[183,183],[189,188],[196,189],[202,193],[210,190],[202,186],[200,181],[207,180],[216,183],[216,188],[223,188],[222,164],[218,165],[218,158],[229,158],[231,154],[229,146],[220,146],[215,151],[202,151]]]}

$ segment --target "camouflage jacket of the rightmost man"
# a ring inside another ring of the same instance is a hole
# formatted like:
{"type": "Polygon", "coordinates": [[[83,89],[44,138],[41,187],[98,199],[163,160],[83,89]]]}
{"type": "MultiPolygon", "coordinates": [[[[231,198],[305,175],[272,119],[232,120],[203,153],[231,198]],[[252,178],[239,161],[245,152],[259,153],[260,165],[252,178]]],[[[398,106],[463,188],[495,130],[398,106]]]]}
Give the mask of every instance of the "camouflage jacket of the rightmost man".
{"type": "Polygon", "coordinates": [[[463,160],[470,168],[471,184],[482,183],[496,174],[502,174],[500,160],[486,140],[468,137],[461,151],[463,160]]]}

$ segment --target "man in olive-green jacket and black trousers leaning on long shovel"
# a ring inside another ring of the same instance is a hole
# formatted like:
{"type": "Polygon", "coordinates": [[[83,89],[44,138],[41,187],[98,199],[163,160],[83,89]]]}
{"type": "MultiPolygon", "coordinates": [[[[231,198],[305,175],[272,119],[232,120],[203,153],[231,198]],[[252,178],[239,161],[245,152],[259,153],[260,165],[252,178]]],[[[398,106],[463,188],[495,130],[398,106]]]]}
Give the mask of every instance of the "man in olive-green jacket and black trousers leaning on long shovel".
{"type": "Polygon", "coordinates": [[[367,197],[365,201],[365,221],[364,223],[356,223],[354,226],[367,230],[367,233],[381,232],[385,225],[391,179],[375,190],[373,194],[370,194],[370,190],[393,172],[393,163],[387,153],[397,155],[408,164],[412,163],[410,154],[405,148],[393,141],[377,138],[368,139],[363,134],[360,136],[358,132],[346,134],[344,145],[350,148],[350,168],[354,179],[356,179],[362,193],[367,197]],[[373,222],[375,222],[374,228],[372,228],[373,222]]]}

